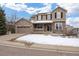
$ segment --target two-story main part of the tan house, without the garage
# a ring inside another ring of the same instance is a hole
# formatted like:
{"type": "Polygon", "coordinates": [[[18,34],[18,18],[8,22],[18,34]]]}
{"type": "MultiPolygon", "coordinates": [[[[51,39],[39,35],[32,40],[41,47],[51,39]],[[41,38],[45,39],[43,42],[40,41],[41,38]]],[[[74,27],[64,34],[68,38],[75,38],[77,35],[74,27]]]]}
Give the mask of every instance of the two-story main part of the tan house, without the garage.
{"type": "Polygon", "coordinates": [[[35,33],[65,33],[66,10],[57,7],[50,13],[39,13],[32,16],[31,22],[35,33]]]}

